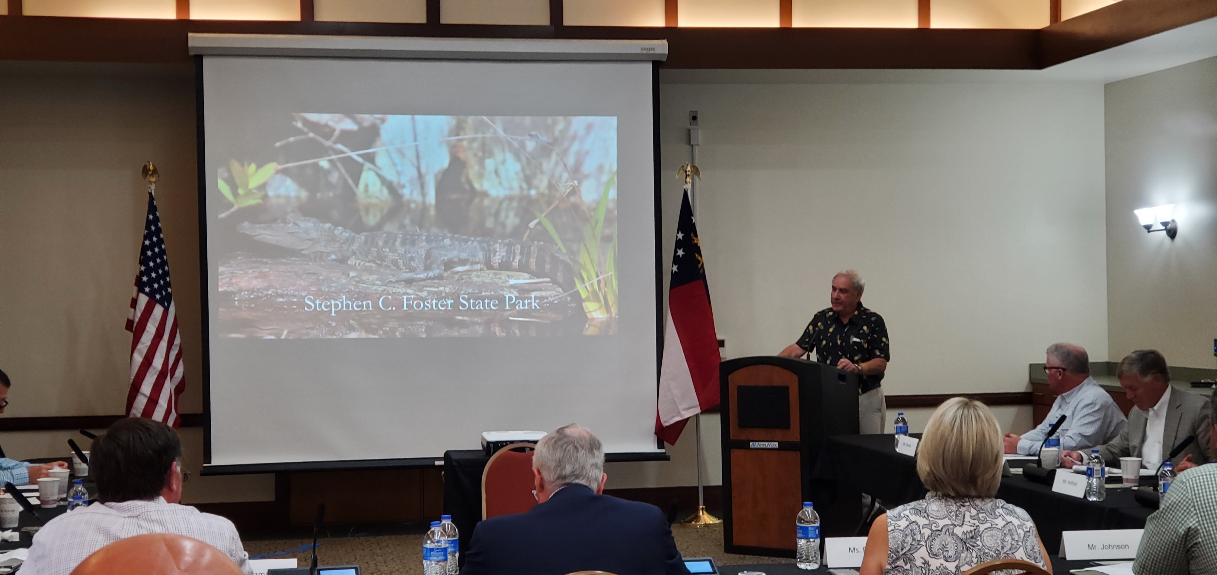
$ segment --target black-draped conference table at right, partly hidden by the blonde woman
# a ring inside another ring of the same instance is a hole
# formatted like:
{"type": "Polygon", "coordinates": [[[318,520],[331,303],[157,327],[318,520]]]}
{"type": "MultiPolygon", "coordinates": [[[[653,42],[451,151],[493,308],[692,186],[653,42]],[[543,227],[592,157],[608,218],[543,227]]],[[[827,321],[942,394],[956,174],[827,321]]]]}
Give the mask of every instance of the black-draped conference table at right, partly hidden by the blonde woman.
{"type": "MultiPolygon", "coordinates": [[[[891,434],[829,438],[813,475],[839,486],[842,496],[862,491],[879,497],[888,508],[920,500],[926,492],[916,474],[916,460],[897,453],[891,434]]],[[[1061,531],[1144,529],[1145,519],[1155,511],[1138,503],[1131,489],[1109,484],[1104,501],[1087,501],[1054,492],[1019,474],[1002,478],[997,496],[1031,514],[1049,553],[1060,548],[1061,531]]]]}

